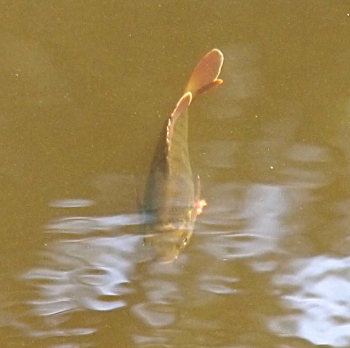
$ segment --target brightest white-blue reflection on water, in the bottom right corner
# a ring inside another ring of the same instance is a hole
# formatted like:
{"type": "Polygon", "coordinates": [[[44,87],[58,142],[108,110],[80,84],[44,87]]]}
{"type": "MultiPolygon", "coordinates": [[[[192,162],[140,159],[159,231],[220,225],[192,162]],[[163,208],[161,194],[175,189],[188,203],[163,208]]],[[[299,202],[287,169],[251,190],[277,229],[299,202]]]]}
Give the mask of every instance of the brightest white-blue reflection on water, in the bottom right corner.
{"type": "Polygon", "coordinates": [[[286,314],[270,321],[284,336],[313,344],[350,346],[350,258],[317,256],[294,260],[273,279],[286,314]]]}

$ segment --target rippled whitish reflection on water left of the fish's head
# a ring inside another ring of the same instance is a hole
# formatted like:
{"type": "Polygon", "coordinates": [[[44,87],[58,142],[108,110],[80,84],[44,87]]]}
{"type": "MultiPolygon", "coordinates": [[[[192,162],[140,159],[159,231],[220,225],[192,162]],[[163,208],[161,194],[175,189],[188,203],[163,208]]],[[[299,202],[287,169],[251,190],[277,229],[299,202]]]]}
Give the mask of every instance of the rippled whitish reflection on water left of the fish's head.
{"type": "MultiPolygon", "coordinates": [[[[22,279],[38,292],[36,298],[28,301],[31,313],[44,320],[46,317],[49,326],[56,326],[52,316],[86,309],[110,311],[127,306],[128,295],[132,292],[130,282],[135,255],[138,255],[136,249],[141,238],[121,233],[118,228],[136,221],[139,221],[137,215],[121,215],[63,218],[49,224],[47,232],[57,234],[58,238],[52,238],[46,245],[40,266],[22,275],[22,279]],[[101,230],[114,230],[115,236],[94,237],[92,232],[101,230]]],[[[57,321],[57,325],[59,323],[57,321]]],[[[30,335],[45,336],[48,332],[56,335],[56,331],[36,329],[30,335]]]]}

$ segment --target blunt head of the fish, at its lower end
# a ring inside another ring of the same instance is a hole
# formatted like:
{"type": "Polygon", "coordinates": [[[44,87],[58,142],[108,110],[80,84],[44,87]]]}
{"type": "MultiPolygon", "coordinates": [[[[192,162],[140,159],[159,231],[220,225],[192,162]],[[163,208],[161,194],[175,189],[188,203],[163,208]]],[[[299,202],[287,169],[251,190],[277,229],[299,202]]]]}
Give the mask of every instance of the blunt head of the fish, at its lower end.
{"type": "Polygon", "coordinates": [[[180,252],[186,247],[193,233],[193,226],[183,224],[153,226],[146,233],[144,242],[151,248],[152,258],[159,262],[170,263],[177,259],[180,252]]]}

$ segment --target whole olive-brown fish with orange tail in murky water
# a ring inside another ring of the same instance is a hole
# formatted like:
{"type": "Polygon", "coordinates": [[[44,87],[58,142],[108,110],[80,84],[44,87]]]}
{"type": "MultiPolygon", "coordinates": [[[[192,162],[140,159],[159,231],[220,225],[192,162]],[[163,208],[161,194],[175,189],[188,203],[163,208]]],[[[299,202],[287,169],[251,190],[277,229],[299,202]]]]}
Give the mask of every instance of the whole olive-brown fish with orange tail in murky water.
{"type": "Polygon", "coordinates": [[[188,107],[193,97],[222,83],[217,79],[222,53],[214,49],[198,63],[185,94],[167,119],[151,164],[144,197],[145,243],[156,259],[175,260],[191,238],[196,216],[204,201],[199,197],[199,177],[195,185],[188,156],[188,107]]]}

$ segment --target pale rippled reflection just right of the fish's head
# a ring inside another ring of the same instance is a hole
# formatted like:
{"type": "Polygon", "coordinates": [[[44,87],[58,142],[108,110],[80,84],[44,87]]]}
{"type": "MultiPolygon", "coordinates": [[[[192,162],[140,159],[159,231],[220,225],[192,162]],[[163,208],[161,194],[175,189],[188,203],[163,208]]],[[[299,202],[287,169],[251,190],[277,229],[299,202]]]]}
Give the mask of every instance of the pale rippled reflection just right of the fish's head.
{"type": "Polygon", "coordinates": [[[222,225],[231,226],[231,229],[236,225],[236,233],[232,233],[232,230],[217,231],[208,238],[207,243],[202,246],[203,249],[222,260],[251,258],[278,251],[279,239],[287,232],[282,221],[288,209],[285,189],[262,184],[242,188],[239,210],[234,203],[235,190],[236,185],[230,187],[225,184],[224,190],[217,187],[214,191],[220,194],[220,198],[215,199],[225,202],[226,211],[221,206],[218,215],[215,207],[209,206],[203,219],[210,222],[211,217],[216,216],[211,222],[220,221],[222,225]],[[232,223],[233,219],[236,220],[235,224],[232,223]]]}

